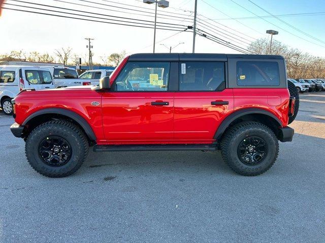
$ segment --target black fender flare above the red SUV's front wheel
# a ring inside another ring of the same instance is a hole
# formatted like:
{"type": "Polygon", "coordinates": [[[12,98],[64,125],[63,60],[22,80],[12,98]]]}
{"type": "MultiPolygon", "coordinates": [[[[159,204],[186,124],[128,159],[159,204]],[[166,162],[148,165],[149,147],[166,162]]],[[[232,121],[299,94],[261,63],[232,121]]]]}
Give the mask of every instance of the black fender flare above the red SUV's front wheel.
{"type": "Polygon", "coordinates": [[[94,132],[92,131],[90,125],[87,123],[85,118],[83,118],[81,115],[77,114],[74,111],[63,109],[63,108],[45,108],[42,110],[38,110],[35,113],[32,113],[29,115],[23,122],[22,126],[25,126],[29,120],[32,118],[39,116],[39,115],[44,115],[44,114],[61,114],[64,116],[67,116],[73,120],[76,121],[82,127],[82,129],[85,131],[86,135],[88,138],[92,141],[96,141],[96,136],[94,132]]]}

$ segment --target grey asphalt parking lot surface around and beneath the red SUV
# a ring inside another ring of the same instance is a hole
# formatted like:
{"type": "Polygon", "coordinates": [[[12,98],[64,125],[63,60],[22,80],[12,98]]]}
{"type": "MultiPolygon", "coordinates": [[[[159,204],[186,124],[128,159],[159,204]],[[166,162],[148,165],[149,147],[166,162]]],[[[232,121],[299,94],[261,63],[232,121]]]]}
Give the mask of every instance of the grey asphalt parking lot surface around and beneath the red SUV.
{"type": "Polygon", "coordinates": [[[219,152],[91,151],[74,175],[46,178],[0,113],[0,241],[324,242],[325,92],[300,99],[294,141],[257,177],[219,152]]]}

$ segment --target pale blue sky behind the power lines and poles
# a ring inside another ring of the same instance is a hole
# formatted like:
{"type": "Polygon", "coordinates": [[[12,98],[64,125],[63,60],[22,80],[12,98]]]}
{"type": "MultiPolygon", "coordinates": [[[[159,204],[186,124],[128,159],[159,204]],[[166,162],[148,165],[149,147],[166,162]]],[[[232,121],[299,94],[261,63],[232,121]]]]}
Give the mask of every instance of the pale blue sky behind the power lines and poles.
{"type": "MultiPolygon", "coordinates": [[[[21,1],[88,12],[88,14],[78,13],[82,15],[97,13],[102,15],[92,16],[114,19],[117,18],[108,17],[107,15],[134,18],[137,20],[146,20],[147,22],[145,23],[147,24],[152,24],[154,21],[154,5],[144,4],[143,1],[140,0],[21,1]],[[75,5],[63,3],[62,1],[74,3],[75,5]],[[97,4],[93,4],[94,2],[97,4]],[[121,8],[114,8],[112,6],[121,8]],[[121,13],[118,11],[128,13],[121,13]]],[[[194,0],[170,0],[169,2],[169,8],[158,8],[158,13],[161,15],[157,16],[157,22],[179,24],[178,27],[180,28],[185,28],[182,25],[192,25],[191,22],[186,21],[187,18],[193,16],[194,0]],[[163,19],[161,17],[169,19],[163,19]]],[[[7,0],[5,3],[72,12],[69,10],[25,4],[13,0],[7,0]]],[[[7,4],[3,7],[26,9],[7,4]]],[[[50,11],[29,10],[53,13],[50,11]]],[[[82,16],[79,17],[84,18],[82,16]]],[[[198,18],[201,19],[199,20],[201,23],[199,23],[198,28],[208,32],[208,36],[212,34],[242,48],[246,48],[248,43],[254,41],[256,38],[270,38],[270,35],[266,34],[266,30],[274,29],[279,32],[278,35],[273,36],[274,39],[290,47],[309,52],[315,56],[325,57],[325,31],[323,27],[325,22],[325,1],[323,0],[251,0],[251,2],[249,0],[198,0],[198,18]],[[246,10],[236,3],[246,8],[246,10]],[[256,17],[256,15],[268,16],[270,14],[258,8],[253,3],[272,15],[323,13],[317,15],[307,14],[304,16],[291,15],[290,17],[279,17],[280,20],[276,18],[265,18],[267,22],[256,17]],[[255,18],[234,20],[230,17],[255,18]],[[281,20],[285,21],[287,24],[281,22],[281,20]],[[207,24],[209,24],[209,27],[206,27],[207,24]]],[[[103,19],[94,20],[108,21],[103,19]]],[[[135,20],[127,21],[132,22],[128,24],[137,22],[135,20]]],[[[101,62],[101,57],[109,56],[111,53],[119,53],[123,50],[125,50],[127,54],[150,53],[152,52],[153,44],[153,29],[149,28],[67,19],[7,9],[3,10],[2,16],[0,17],[0,30],[2,33],[0,38],[0,55],[9,53],[12,50],[24,50],[25,52],[38,51],[40,53],[47,52],[53,54],[55,49],[71,47],[73,53],[77,56],[84,57],[87,53],[87,41],[84,38],[91,37],[94,39],[92,42],[92,51],[94,53],[93,61],[101,62]]],[[[175,47],[173,52],[190,53],[192,51],[192,38],[193,33],[189,31],[179,32],[157,29],[156,52],[169,52],[167,47],[174,47],[179,43],[184,43],[175,47]]],[[[239,51],[224,47],[200,35],[196,37],[196,52],[239,53],[239,51]]]]}

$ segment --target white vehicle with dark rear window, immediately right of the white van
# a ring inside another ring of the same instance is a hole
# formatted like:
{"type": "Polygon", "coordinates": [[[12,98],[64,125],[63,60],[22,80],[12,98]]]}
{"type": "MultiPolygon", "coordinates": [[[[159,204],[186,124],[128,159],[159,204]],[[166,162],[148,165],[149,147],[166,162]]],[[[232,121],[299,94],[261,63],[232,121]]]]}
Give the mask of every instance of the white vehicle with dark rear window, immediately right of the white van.
{"type": "Polygon", "coordinates": [[[82,85],[76,69],[61,66],[44,66],[50,70],[55,88],[82,85]]]}

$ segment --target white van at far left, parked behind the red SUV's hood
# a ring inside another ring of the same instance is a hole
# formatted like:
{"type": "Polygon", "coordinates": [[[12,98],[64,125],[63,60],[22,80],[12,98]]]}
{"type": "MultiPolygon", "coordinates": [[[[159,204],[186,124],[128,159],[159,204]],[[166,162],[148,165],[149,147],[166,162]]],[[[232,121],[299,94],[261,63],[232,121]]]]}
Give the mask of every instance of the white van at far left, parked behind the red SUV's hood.
{"type": "Polygon", "coordinates": [[[11,100],[23,89],[54,89],[48,69],[31,66],[0,66],[0,104],[3,112],[12,115],[11,100]]]}

